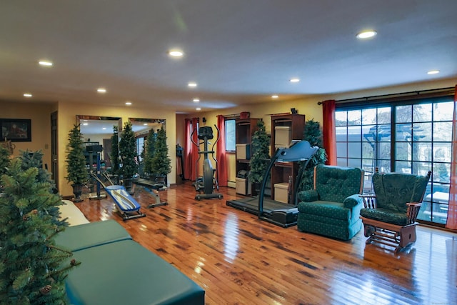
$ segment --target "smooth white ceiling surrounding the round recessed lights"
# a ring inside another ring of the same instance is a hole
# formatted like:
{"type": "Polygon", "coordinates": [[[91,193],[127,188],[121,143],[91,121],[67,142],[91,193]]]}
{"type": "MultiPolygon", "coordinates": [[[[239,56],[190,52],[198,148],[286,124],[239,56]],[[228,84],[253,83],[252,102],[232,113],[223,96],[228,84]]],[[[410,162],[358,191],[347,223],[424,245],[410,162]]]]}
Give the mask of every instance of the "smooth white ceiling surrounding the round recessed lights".
{"type": "Polygon", "coordinates": [[[456,12],[456,0],[2,1],[0,101],[30,92],[194,112],[194,97],[205,111],[450,79],[456,12]],[[378,35],[358,41],[363,29],[378,35]],[[184,58],[169,58],[174,48],[184,58]]]}

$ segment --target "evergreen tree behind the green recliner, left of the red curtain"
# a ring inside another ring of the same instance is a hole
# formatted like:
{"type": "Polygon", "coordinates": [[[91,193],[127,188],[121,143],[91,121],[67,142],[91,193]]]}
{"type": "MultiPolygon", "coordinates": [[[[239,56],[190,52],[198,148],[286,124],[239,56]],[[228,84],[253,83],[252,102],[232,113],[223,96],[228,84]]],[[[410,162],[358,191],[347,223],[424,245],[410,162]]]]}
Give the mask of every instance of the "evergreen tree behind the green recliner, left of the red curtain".
{"type": "MultiPolygon", "coordinates": [[[[311,146],[318,146],[319,149],[316,154],[311,156],[311,160],[306,165],[306,168],[302,169],[303,173],[300,179],[299,189],[305,191],[313,189],[313,172],[314,166],[317,164],[325,164],[327,161],[326,150],[322,148],[322,130],[321,124],[314,119],[306,121],[305,127],[303,128],[303,140],[308,141],[311,146]]],[[[301,162],[300,166],[303,166],[304,162],[301,162]]]]}

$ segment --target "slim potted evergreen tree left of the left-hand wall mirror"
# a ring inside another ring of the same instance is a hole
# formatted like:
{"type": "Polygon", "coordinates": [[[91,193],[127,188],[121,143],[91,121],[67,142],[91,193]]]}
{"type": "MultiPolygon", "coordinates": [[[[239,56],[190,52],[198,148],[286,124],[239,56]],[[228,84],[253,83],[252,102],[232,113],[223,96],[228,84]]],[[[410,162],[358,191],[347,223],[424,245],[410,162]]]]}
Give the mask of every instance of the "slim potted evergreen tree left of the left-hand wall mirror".
{"type": "Polygon", "coordinates": [[[65,177],[73,187],[74,202],[81,202],[82,189],[88,180],[86,170],[86,156],[84,156],[84,141],[79,124],[75,124],[69,132],[68,144],[66,146],[66,172],[65,177]]]}

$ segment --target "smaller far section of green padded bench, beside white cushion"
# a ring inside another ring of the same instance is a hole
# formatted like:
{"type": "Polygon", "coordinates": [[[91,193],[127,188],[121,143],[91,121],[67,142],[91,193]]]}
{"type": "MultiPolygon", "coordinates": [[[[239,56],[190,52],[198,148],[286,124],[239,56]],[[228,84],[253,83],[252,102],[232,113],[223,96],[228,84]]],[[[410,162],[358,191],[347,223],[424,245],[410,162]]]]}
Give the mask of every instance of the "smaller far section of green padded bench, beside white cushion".
{"type": "Polygon", "coordinates": [[[80,251],[116,241],[131,239],[129,232],[115,220],[96,221],[69,226],[56,236],[56,245],[69,251],[80,251]]]}

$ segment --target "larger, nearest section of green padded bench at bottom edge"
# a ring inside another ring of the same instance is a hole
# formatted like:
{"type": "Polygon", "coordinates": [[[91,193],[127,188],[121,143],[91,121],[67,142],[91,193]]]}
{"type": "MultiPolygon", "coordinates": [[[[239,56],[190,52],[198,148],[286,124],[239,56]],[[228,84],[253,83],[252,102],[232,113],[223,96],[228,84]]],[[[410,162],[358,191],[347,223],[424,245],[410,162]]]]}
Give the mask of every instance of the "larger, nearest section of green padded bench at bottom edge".
{"type": "Polygon", "coordinates": [[[205,303],[205,291],[161,257],[133,240],[75,251],[81,265],[66,279],[70,304],[205,303]]]}

